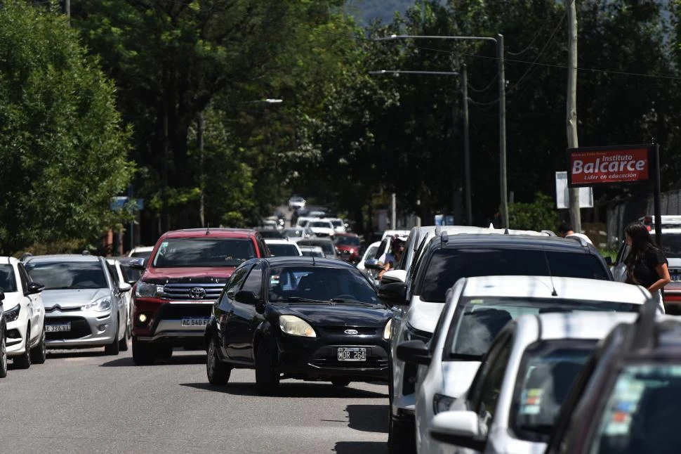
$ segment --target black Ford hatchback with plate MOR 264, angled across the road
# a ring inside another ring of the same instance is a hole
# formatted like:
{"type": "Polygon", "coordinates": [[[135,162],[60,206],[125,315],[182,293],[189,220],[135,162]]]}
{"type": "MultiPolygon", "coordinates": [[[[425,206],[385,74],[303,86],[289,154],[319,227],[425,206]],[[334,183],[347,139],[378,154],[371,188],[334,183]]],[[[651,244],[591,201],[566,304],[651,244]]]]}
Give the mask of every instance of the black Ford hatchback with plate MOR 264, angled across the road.
{"type": "Polygon", "coordinates": [[[279,380],[388,379],[390,314],[354,266],[315,257],[251,259],[234,271],[206,326],[206,372],[226,384],[254,368],[260,394],[279,380]]]}

